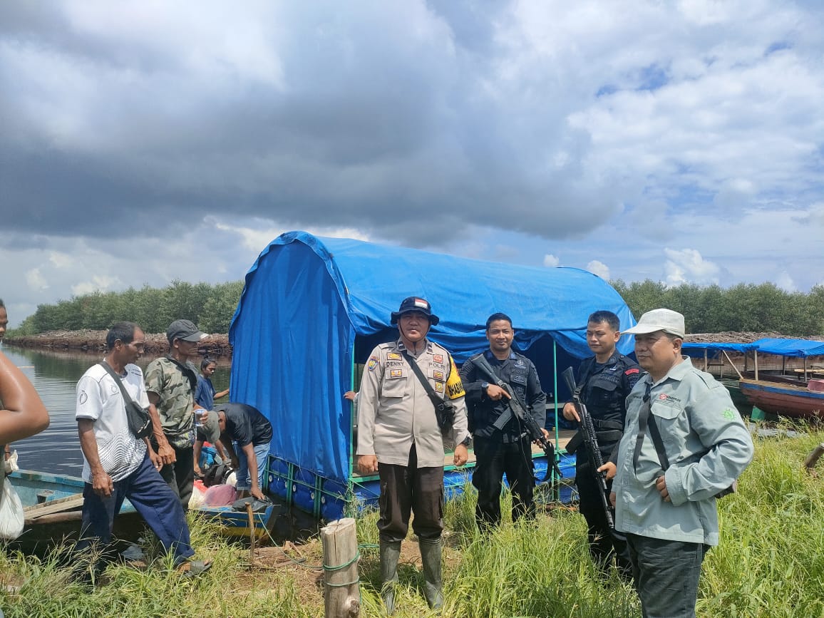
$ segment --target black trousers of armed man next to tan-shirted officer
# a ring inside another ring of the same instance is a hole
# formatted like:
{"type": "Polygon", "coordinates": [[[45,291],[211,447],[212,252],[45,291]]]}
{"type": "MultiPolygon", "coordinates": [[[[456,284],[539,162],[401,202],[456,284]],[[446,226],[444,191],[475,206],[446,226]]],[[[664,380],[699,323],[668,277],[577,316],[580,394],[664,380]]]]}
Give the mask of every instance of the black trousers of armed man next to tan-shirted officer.
{"type": "Polygon", "coordinates": [[[478,490],[475,521],[478,527],[498,526],[501,522],[501,484],[507,475],[513,493],[513,522],[535,518],[535,476],[532,473],[532,448],[529,438],[501,442],[495,438],[475,438],[475,471],[472,485],[478,490]]]}

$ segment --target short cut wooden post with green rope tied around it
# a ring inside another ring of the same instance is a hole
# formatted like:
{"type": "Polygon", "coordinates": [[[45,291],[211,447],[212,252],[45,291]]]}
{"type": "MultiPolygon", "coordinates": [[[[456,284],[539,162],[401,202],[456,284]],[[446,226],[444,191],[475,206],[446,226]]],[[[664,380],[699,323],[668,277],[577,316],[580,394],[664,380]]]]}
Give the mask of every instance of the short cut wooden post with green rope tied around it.
{"type": "Polygon", "coordinates": [[[321,528],[325,618],[360,616],[358,533],[352,517],[321,528]]]}

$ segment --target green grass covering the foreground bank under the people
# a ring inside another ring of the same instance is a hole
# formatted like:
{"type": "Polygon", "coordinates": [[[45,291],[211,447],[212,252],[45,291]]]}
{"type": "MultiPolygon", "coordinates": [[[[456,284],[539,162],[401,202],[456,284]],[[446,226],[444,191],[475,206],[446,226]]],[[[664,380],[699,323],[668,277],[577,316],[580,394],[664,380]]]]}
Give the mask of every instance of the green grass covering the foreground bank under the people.
{"type": "MultiPolygon", "coordinates": [[[[756,458],[739,491],[719,502],[721,545],[705,559],[699,616],[824,617],[824,461],[819,477],[802,461],[824,432],[756,441],[756,458]]],[[[612,578],[597,580],[588,558],[583,517],[539,514],[534,525],[506,522],[490,536],[475,531],[475,495],[447,503],[442,616],[639,616],[634,591],[612,578]]],[[[504,495],[504,513],[510,498],[504,495]]],[[[358,541],[377,543],[377,515],[358,521],[358,541]]],[[[193,544],[214,566],[204,577],[175,574],[157,541],[144,546],[146,570],[111,566],[94,588],[73,583],[59,556],[37,559],[0,550],[0,578],[26,581],[18,593],[0,591],[6,616],[323,616],[317,571],[247,566],[248,550],[228,544],[204,522],[192,525],[193,544]]],[[[414,545],[412,545],[414,548],[414,545]]],[[[319,543],[304,549],[320,564],[319,543]]],[[[377,550],[364,545],[362,616],[380,616],[377,550]]],[[[396,616],[436,616],[420,592],[419,568],[402,561],[396,616]]]]}

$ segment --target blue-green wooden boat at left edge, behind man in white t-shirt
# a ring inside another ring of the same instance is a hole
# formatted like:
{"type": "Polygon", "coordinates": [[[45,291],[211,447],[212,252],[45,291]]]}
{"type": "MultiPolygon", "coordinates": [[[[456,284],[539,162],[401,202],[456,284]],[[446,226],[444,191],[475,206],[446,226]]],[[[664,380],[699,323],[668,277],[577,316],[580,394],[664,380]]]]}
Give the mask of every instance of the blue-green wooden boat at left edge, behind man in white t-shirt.
{"type": "MultiPolygon", "coordinates": [[[[61,541],[77,541],[83,506],[81,478],[19,470],[12,472],[6,480],[11,481],[26,513],[23,534],[10,545],[40,553],[61,541]]],[[[125,500],[115,517],[115,538],[137,541],[144,527],[143,517],[125,500]]]]}

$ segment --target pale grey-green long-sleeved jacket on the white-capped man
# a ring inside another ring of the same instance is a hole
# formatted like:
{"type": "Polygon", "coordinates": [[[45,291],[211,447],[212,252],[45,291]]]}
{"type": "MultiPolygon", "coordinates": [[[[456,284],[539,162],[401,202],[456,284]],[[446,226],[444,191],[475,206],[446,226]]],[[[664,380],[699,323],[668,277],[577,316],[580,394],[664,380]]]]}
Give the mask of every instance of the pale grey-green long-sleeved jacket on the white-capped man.
{"type": "Polygon", "coordinates": [[[626,400],[626,426],[618,449],[616,530],[669,541],[718,545],[715,494],[732,485],[752,460],[752,438],[727,389],[686,356],[658,382],[648,374],[626,400]],[[670,467],[664,475],[671,502],[655,481],[662,475],[647,430],[638,471],[633,452],[647,384],[651,414],[660,430],[670,467]]]}

